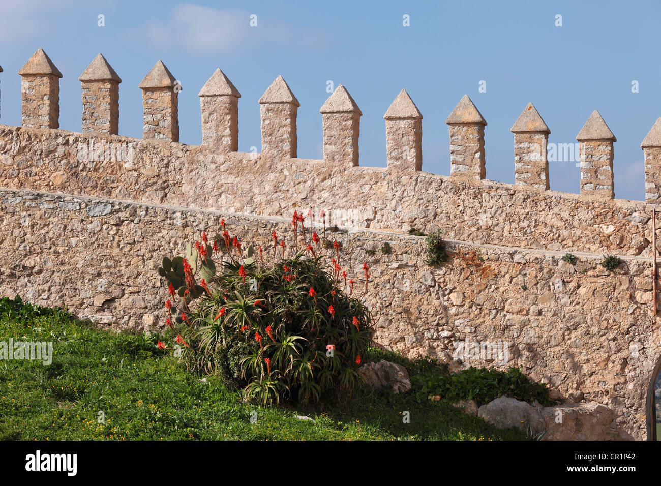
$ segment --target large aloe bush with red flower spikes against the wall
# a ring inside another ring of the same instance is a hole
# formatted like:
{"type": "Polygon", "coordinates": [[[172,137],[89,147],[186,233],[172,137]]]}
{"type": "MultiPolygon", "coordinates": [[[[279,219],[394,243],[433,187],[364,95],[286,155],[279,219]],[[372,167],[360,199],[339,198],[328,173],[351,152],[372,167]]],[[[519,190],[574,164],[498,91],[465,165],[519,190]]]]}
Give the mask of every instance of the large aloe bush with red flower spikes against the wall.
{"type": "Polygon", "coordinates": [[[264,403],[315,401],[325,390],[362,384],[356,368],[372,333],[357,298],[363,287],[342,270],[339,243],[325,252],[303,223],[294,213],[289,251],[275,231],[270,242],[244,249],[221,220],[220,241],[203,233],[186,257],[163,259],[171,346],[180,346],[189,369],[222,374],[264,403]]]}

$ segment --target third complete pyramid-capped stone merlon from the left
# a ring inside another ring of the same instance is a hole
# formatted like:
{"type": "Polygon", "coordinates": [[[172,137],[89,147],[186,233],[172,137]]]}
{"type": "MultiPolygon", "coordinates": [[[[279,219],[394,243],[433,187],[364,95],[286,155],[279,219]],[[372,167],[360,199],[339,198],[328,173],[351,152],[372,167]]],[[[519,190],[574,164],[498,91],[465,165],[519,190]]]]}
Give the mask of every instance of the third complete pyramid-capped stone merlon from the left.
{"type": "Polygon", "coordinates": [[[163,61],[155,63],[138,87],[142,90],[142,138],[179,141],[176,79],[163,61]]]}

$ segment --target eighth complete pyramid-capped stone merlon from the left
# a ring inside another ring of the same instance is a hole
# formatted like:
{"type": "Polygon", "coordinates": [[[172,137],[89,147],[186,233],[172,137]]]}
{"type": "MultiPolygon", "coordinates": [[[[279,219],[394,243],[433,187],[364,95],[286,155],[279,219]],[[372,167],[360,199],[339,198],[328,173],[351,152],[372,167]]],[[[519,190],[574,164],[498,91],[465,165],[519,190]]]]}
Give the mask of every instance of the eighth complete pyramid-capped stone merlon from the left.
{"type": "Polygon", "coordinates": [[[484,179],[486,120],[468,95],[447,117],[450,136],[450,176],[484,179]]]}

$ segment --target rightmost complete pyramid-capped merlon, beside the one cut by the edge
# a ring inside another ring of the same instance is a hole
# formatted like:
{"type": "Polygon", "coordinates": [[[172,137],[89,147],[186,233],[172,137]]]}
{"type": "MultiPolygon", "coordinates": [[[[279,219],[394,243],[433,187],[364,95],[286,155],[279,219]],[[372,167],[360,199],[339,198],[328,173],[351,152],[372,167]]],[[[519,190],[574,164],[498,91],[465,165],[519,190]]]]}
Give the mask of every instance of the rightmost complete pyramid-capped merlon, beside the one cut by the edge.
{"type": "Polygon", "coordinates": [[[597,110],[576,136],[580,151],[580,193],[615,198],[613,142],[617,139],[597,110]]]}

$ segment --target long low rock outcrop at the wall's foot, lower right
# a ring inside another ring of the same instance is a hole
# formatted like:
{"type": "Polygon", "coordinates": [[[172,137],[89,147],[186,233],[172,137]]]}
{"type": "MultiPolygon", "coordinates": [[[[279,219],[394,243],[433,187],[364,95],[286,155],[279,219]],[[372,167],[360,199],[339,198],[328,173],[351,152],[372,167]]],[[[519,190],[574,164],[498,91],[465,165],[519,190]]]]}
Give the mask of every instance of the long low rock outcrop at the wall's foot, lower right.
{"type": "Polygon", "coordinates": [[[533,405],[506,397],[478,409],[477,416],[500,428],[516,428],[533,434],[546,432],[543,440],[623,440],[611,409],[600,403],[565,403],[553,407],[533,405]]]}

